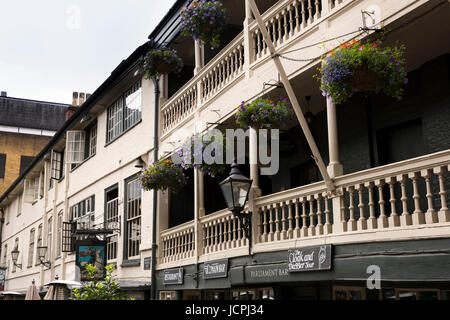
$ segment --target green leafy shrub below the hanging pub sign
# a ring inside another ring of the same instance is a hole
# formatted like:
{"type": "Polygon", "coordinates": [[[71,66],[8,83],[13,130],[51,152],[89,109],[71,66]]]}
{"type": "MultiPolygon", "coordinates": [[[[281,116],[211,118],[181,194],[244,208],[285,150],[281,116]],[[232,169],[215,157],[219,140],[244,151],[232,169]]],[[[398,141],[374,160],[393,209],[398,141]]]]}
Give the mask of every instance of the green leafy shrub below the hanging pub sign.
{"type": "Polygon", "coordinates": [[[106,266],[105,280],[99,281],[95,278],[96,266],[88,264],[86,269],[89,273],[89,282],[82,289],[72,291],[72,300],[134,300],[129,299],[119,287],[119,283],[113,280],[112,273],[114,265],[106,266]]]}

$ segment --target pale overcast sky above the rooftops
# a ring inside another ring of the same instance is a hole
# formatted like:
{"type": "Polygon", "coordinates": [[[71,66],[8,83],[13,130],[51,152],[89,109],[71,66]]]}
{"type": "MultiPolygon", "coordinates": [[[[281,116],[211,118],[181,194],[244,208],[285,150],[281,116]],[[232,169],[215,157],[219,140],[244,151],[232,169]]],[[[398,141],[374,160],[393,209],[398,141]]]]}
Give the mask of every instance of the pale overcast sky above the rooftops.
{"type": "Polygon", "coordinates": [[[93,93],[175,0],[2,0],[0,90],[72,103],[93,93]]]}

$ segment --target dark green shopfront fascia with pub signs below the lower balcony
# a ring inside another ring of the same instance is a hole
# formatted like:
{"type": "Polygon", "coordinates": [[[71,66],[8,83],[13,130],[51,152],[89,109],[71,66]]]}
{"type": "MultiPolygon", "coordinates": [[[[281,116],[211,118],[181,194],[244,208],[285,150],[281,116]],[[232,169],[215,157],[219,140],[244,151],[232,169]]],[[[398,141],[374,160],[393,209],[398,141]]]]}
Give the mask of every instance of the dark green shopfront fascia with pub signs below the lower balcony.
{"type": "Polygon", "coordinates": [[[160,299],[450,299],[450,238],[293,248],[206,267],[158,271],[160,299]]]}

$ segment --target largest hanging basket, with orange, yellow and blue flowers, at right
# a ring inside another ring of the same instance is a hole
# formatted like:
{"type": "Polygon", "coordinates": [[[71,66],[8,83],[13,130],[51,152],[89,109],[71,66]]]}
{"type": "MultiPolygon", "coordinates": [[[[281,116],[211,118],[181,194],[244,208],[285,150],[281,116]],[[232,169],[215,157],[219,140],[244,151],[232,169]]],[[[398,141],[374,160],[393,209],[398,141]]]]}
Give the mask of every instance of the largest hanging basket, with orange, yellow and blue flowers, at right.
{"type": "Polygon", "coordinates": [[[354,92],[380,92],[401,99],[406,78],[405,47],[379,43],[347,42],[330,51],[319,68],[322,94],[334,104],[347,101],[354,92]]]}

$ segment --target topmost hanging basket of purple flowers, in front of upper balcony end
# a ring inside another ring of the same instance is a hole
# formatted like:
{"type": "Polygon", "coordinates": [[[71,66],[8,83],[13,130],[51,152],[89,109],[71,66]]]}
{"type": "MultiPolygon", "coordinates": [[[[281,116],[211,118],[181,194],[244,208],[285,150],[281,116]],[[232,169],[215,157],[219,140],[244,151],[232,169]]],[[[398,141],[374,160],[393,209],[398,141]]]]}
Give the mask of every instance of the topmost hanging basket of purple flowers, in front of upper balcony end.
{"type": "Polygon", "coordinates": [[[181,34],[200,39],[212,48],[219,46],[225,25],[226,9],[220,1],[194,1],[181,12],[181,34]]]}

